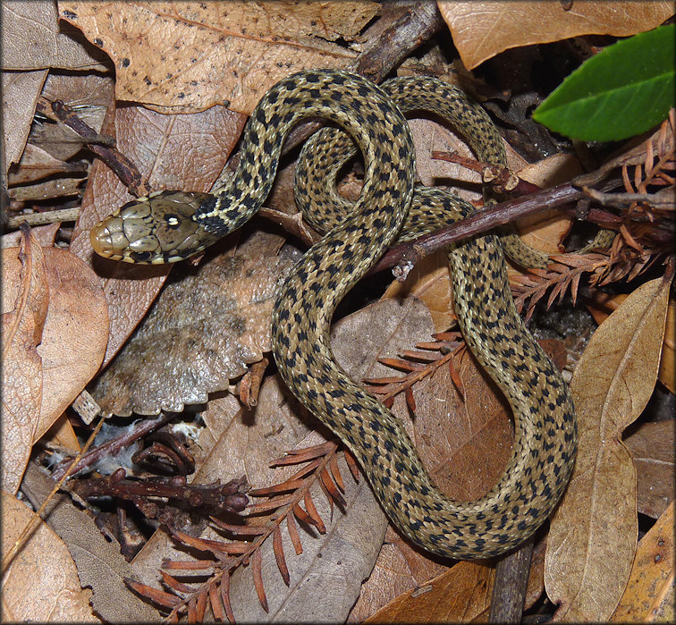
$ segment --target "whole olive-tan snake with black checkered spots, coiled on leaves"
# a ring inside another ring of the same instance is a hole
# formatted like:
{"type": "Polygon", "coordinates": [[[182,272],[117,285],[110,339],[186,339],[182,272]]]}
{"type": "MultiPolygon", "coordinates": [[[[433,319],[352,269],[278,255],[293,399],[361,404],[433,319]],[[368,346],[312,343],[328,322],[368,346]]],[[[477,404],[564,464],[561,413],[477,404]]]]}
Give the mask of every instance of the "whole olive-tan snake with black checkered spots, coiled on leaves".
{"type": "MultiPolygon", "coordinates": [[[[387,89],[406,109],[432,111],[455,123],[481,160],[504,163],[492,122],[461,91],[431,78],[397,79],[387,89]]],[[[280,81],[251,115],[238,169],[224,190],[215,195],[162,191],[131,202],[92,230],[94,249],[128,262],[173,262],[239,228],[266,199],[283,140],[308,116],[335,122],[356,142],[364,158],[364,188],[349,215],[339,215],[344,202],[325,186],[351,150],[350,142],[328,130],[320,135],[328,141],[323,147],[304,149],[300,199],[314,224],[331,229],[293,268],[278,294],[272,332],[279,371],[292,393],[359,460],[384,511],[413,543],[455,558],[504,553],[553,510],[570,476],[576,425],[566,384],[514,308],[498,236],[473,238],[449,251],[462,333],[514,415],[511,460],[484,497],[455,502],[444,496],[397,418],[345,375],[331,351],[335,307],[396,240],[407,215],[409,230],[402,238],[472,210],[442,191],[416,188],[414,193],[409,126],[383,89],[356,74],[328,70],[280,81]]],[[[521,262],[541,265],[542,258],[517,239],[508,237],[506,246],[521,262]]]]}

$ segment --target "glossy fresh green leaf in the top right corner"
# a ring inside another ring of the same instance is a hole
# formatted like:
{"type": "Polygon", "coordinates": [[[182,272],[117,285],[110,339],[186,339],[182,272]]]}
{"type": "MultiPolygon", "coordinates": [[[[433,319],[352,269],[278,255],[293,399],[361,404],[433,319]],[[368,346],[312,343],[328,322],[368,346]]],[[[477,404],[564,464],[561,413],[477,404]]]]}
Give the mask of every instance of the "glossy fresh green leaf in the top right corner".
{"type": "Polygon", "coordinates": [[[674,106],[674,30],[661,26],[606,47],[554,89],[536,122],[572,139],[627,139],[674,106]]]}

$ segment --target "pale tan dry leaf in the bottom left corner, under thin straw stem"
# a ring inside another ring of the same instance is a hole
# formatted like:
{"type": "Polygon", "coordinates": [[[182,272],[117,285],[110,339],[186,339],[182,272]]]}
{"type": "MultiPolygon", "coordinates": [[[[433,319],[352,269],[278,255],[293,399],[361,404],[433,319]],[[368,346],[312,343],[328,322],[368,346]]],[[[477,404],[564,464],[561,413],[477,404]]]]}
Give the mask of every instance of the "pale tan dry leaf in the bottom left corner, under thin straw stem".
{"type": "MultiPolygon", "coordinates": [[[[2,551],[7,553],[30,523],[33,512],[11,494],[2,494],[2,551]]],[[[91,591],[80,588],[71,554],[40,523],[13,558],[2,579],[3,622],[101,622],[91,612],[91,591]]]]}

